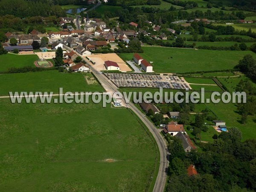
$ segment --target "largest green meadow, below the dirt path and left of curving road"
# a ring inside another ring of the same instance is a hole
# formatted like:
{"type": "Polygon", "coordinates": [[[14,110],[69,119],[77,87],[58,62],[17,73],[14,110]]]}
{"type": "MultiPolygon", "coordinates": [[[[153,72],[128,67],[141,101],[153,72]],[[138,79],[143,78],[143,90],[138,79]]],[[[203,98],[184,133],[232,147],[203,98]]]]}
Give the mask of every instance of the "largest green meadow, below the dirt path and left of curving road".
{"type": "Polygon", "coordinates": [[[154,186],[154,141],[128,109],[9,99],[0,99],[0,108],[0,191],[141,192],[154,186]]]}

